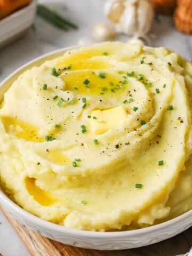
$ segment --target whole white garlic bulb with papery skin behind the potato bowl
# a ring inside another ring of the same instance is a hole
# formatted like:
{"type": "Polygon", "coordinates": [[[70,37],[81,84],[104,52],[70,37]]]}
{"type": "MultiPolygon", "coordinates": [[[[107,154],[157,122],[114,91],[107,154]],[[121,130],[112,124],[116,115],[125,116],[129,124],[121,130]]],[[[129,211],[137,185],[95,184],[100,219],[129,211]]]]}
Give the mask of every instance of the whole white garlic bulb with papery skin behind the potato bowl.
{"type": "Polygon", "coordinates": [[[116,31],[138,37],[146,36],[154,16],[150,0],[107,0],[104,11],[116,31]]]}

